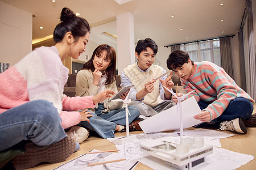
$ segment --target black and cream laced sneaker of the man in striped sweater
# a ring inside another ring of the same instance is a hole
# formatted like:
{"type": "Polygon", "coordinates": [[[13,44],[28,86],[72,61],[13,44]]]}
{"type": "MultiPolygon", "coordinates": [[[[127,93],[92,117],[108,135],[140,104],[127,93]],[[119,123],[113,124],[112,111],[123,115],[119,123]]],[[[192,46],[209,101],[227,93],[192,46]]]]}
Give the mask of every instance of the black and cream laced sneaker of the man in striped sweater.
{"type": "Polygon", "coordinates": [[[237,133],[243,133],[243,134],[247,133],[247,130],[246,130],[245,124],[243,123],[242,118],[236,118],[231,121],[221,122],[220,129],[218,130],[229,130],[229,131],[235,131],[237,133]]]}

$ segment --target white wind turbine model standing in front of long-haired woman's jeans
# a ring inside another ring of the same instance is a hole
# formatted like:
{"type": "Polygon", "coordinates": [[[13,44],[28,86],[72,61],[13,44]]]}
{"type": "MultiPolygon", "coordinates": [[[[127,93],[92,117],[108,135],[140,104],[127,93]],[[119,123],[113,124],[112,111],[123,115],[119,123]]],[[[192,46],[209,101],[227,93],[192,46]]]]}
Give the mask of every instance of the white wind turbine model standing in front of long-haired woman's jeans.
{"type": "Polygon", "coordinates": [[[129,134],[129,118],[128,118],[128,114],[131,116],[129,109],[128,109],[128,104],[131,103],[131,99],[128,99],[130,94],[130,91],[128,92],[127,96],[125,97],[125,100],[122,99],[114,99],[112,101],[119,101],[119,102],[123,102],[125,104],[125,118],[126,118],[126,137],[122,137],[119,139],[116,139],[113,141],[113,143],[117,143],[119,145],[122,145],[124,143],[127,142],[131,142],[134,141],[135,139],[137,139],[136,135],[132,135],[130,136],[129,134]]]}

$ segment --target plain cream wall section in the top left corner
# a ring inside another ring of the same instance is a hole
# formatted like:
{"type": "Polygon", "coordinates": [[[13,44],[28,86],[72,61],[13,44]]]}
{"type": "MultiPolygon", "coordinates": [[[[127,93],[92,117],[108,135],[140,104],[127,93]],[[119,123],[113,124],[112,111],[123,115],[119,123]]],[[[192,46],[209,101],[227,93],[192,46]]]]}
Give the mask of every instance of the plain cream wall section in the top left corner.
{"type": "Polygon", "coordinates": [[[10,66],[32,50],[32,14],[0,1],[0,62],[10,66]]]}

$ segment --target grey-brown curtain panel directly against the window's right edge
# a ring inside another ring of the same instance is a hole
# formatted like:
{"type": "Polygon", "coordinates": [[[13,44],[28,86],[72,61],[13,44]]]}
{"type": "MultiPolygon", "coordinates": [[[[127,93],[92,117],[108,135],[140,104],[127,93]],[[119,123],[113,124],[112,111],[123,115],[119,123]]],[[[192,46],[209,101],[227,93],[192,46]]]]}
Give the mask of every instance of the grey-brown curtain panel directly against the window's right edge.
{"type": "Polygon", "coordinates": [[[220,38],[221,67],[234,79],[230,37],[220,38]]]}

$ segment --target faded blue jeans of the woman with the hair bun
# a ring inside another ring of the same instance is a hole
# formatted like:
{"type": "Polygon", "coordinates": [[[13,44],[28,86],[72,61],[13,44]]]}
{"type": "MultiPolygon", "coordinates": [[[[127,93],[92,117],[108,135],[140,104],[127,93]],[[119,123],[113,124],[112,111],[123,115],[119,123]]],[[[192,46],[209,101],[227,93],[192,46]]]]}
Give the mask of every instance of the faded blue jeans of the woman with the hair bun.
{"type": "Polygon", "coordinates": [[[0,114],[0,151],[23,140],[48,146],[65,138],[57,109],[47,100],[33,100],[0,114]]]}

